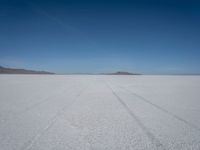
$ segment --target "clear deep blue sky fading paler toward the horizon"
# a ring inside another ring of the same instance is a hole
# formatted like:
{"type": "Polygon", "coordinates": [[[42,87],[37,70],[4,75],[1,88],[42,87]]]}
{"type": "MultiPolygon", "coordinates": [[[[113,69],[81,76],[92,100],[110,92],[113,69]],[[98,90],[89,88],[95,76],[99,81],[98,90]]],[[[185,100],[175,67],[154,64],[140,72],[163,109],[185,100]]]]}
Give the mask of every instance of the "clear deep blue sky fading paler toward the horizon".
{"type": "Polygon", "coordinates": [[[0,66],[200,74],[200,2],[0,0],[0,66]]]}

